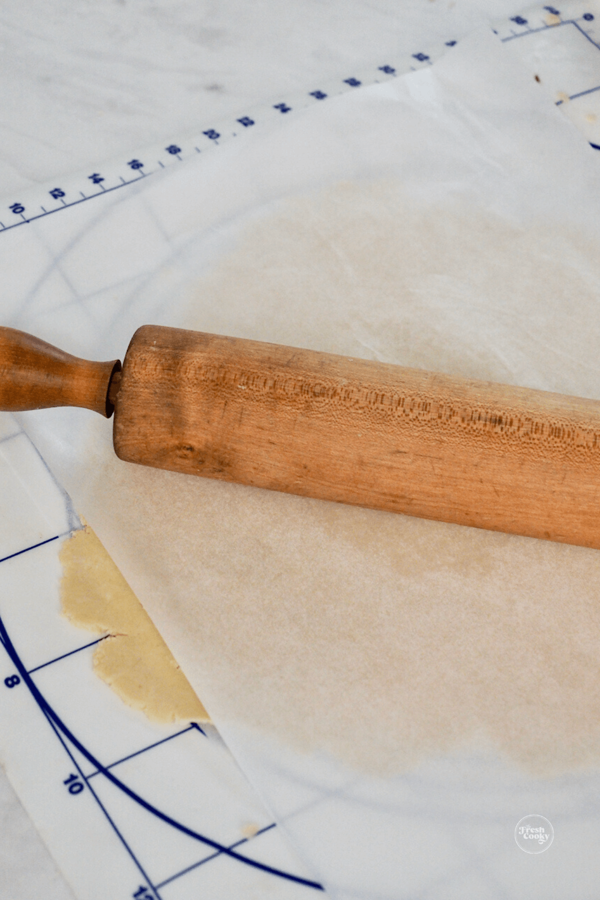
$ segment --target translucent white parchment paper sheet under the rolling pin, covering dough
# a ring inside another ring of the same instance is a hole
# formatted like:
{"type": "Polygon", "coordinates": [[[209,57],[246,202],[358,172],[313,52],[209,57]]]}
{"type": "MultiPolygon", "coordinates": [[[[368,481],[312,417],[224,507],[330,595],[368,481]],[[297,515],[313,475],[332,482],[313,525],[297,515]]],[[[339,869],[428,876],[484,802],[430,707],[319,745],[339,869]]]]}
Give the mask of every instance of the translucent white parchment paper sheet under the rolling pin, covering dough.
{"type": "MultiPolygon", "coordinates": [[[[478,34],[107,204],[61,260],[115,269],[77,352],[151,321],[598,397],[597,165],[478,34]]],[[[596,552],[130,467],[100,419],[22,420],[334,896],[597,883],[596,552]],[[512,837],[532,812],[577,821],[543,869],[512,837]]]]}

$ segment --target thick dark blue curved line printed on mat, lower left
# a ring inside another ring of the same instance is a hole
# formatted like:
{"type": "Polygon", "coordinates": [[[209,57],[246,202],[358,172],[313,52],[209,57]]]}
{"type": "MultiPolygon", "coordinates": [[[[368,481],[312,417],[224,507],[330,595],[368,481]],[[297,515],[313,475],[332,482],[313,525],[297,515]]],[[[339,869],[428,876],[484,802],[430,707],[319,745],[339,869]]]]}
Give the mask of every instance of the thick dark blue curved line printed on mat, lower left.
{"type": "Polygon", "coordinates": [[[70,741],[74,747],[83,755],[85,759],[92,763],[93,766],[109,781],[112,781],[112,784],[119,788],[127,797],[130,797],[135,803],[142,806],[143,809],[147,810],[151,815],[156,815],[158,819],[161,819],[167,825],[171,825],[177,831],[187,834],[189,837],[194,838],[196,841],[200,841],[203,844],[206,844],[209,847],[212,847],[214,850],[219,851],[219,853],[224,853],[226,856],[231,857],[233,860],[237,860],[238,862],[244,863],[246,866],[251,866],[253,869],[260,869],[263,872],[267,872],[269,875],[275,875],[278,878],[285,878],[288,881],[294,881],[296,884],[304,885],[305,887],[312,887],[318,891],[324,891],[325,888],[318,883],[318,881],[310,881],[308,878],[300,878],[299,875],[291,875],[290,872],[283,872],[282,869],[273,869],[272,866],[266,866],[263,862],[257,862],[256,860],[251,860],[249,857],[244,856],[242,853],[237,853],[234,850],[230,850],[224,844],[220,844],[217,841],[212,841],[210,838],[205,837],[203,834],[198,832],[194,832],[193,829],[187,828],[186,825],[177,822],[175,819],[172,819],[170,815],[166,815],[166,813],[161,812],[157,809],[156,806],[152,806],[152,804],[148,803],[147,800],[144,800],[143,797],[139,797],[139,794],[136,794],[135,791],[128,788],[121,779],[118,779],[115,775],[112,774],[111,771],[105,769],[102,763],[99,760],[96,760],[94,755],[90,753],[85,746],[80,743],[75,734],[72,734],[71,731],[67,728],[67,725],[60,719],[60,717],[55,713],[55,711],[50,707],[48,701],[44,696],[40,693],[40,690],[36,688],[35,684],[31,680],[31,676],[29,672],[25,669],[22,664],[21,657],[16,652],[13,642],[11,641],[6,628],[4,627],[4,622],[0,617],[0,641],[4,644],[4,649],[6,653],[10,656],[13,665],[19,672],[23,682],[27,685],[28,689],[31,692],[31,696],[34,698],[42,712],[46,713],[49,716],[50,720],[57,726],[57,728],[65,735],[68,741],[70,741]]]}

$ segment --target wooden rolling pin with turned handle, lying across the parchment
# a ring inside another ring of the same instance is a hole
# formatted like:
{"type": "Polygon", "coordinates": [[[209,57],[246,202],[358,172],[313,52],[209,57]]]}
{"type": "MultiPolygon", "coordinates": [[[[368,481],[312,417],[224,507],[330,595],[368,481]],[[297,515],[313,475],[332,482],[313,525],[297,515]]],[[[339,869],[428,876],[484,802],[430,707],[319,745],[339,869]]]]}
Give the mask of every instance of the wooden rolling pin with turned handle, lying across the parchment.
{"type": "Polygon", "coordinates": [[[146,325],[122,365],[0,329],[0,410],[110,417],[116,454],[600,548],[600,401],[146,325]]]}

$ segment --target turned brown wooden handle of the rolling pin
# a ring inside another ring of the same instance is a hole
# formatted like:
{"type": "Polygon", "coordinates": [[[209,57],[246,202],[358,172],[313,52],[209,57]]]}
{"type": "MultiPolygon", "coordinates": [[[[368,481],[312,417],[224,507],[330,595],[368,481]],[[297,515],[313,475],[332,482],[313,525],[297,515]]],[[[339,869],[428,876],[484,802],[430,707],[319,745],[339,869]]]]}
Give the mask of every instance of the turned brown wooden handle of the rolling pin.
{"type": "Polygon", "coordinates": [[[91,363],[24,331],[0,327],[0,410],[79,406],[112,416],[112,375],[121,363],[91,363]]]}

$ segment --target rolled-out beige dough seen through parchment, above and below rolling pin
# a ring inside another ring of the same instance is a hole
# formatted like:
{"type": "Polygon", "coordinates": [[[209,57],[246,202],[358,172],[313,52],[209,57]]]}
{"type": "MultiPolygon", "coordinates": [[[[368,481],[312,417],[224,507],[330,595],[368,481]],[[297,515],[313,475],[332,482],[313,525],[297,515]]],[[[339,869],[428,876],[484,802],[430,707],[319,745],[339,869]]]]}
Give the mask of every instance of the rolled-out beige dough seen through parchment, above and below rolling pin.
{"type": "MultiPolygon", "coordinates": [[[[600,243],[452,192],[282,202],[188,294],[188,328],[600,395],[600,243]]],[[[600,767],[596,551],[123,464],[95,429],[78,502],[217,725],[381,773],[600,767]]]]}

